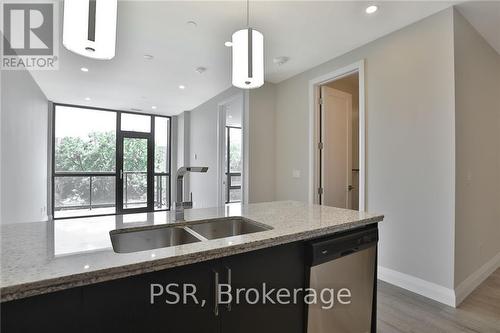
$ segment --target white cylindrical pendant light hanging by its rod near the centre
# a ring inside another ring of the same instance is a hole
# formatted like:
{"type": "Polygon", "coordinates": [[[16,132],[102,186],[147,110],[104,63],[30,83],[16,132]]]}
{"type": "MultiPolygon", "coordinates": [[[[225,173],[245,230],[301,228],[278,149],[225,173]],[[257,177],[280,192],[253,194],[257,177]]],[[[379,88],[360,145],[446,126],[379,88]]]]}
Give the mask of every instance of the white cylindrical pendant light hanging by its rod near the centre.
{"type": "Polygon", "coordinates": [[[259,88],[264,84],[264,36],[249,25],[232,36],[233,86],[243,89],[259,88]]]}

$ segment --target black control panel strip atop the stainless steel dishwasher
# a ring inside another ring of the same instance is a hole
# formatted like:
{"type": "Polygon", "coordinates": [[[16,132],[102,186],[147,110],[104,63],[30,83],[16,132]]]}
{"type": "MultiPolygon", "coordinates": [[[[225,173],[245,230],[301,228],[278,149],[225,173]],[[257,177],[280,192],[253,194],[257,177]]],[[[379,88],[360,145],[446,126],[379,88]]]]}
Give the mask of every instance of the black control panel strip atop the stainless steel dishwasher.
{"type": "Polygon", "coordinates": [[[310,266],[320,265],[375,246],[377,242],[376,227],[312,241],[309,243],[309,263],[310,266]]]}

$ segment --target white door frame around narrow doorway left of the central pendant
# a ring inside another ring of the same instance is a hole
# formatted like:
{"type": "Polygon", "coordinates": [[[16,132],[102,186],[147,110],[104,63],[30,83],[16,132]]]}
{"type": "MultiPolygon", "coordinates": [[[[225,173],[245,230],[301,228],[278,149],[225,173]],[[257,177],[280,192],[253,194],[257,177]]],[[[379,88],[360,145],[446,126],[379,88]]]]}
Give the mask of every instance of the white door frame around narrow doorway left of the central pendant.
{"type": "Polygon", "coordinates": [[[217,104],[217,206],[226,204],[223,181],[225,179],[224,153],[226,150],[226,105],[241,101],[241,149],[243,165],[241,170],[241,203],[248,203],[248,94],[239,92],[217,104]]]}

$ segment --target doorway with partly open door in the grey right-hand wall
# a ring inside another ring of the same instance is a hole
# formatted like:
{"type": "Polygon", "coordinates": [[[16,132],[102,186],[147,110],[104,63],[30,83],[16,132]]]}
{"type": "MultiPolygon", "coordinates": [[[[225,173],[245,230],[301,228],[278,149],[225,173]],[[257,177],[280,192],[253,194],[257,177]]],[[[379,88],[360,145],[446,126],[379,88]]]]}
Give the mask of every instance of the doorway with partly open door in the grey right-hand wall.
{"type": "Polygon", "coordinates": [[[365,209],[363,82],[360,62],[310,83],[314,203],[365,209]]]}

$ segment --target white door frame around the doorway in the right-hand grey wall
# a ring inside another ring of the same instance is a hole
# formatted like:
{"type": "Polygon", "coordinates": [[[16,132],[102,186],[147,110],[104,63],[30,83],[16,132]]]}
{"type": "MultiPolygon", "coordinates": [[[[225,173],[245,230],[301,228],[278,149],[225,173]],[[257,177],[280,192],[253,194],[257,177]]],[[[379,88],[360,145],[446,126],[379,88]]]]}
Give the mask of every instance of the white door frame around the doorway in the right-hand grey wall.
{"type": "Polygon", "coordinates": [[[359,76],[359,208],[366,209],[366,114],[365,114],[365,61],[364,59],[318,76],[309,81],[309,203],[319,201],[319,90],[320,86],[345,76],[359,76]]]}

